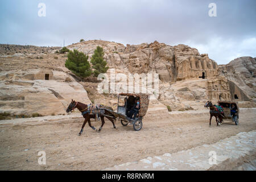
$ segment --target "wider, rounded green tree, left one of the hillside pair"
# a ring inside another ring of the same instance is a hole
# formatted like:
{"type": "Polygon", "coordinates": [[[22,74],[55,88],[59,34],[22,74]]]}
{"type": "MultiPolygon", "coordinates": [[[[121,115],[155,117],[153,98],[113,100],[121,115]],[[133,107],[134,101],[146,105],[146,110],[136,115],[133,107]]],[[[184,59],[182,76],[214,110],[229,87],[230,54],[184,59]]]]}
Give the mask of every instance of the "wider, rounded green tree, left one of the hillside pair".
{"type": "Polygon", "coordinates": [[[88,56],[84,53],[77,51],[69,51],[68,59],[66,60],[65,67],[80,77],[88,77],[92,75],[92,69],[88,61],[88,56]]]}

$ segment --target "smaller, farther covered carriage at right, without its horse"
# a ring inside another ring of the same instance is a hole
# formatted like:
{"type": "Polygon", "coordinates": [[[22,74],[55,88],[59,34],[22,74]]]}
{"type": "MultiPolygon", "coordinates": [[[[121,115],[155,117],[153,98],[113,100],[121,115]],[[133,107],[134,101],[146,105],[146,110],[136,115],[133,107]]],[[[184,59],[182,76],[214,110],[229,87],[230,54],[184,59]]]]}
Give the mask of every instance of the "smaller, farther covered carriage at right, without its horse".
{"type": "Polygon", "coordinates": [[[238,125],[239,122],[239,107],[238,102],[236,101],[218,101],[218,105],[220,105],[224,112],[224,118],[225,120],[233,121],[236,125],[238,125]],[[234,109],[237,110],[236,115],[232,115],[232,105],[234,105],[234,109]]]}

